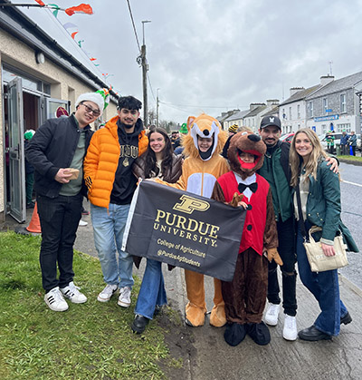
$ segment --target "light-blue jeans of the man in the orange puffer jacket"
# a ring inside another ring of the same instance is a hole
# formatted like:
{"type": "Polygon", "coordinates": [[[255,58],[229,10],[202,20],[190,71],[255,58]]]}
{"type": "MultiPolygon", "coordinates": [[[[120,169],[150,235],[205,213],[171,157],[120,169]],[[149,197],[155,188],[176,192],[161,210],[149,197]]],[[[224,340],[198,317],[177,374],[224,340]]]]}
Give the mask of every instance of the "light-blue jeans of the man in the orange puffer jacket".
{"type": "Polygon", "coordinates": [[[133,287],[134,283],[132,256],[121,250],[128,215],[129,205],[110,203],[109,209],[106,209],[90,204],[94,244],[100,258],[104,281],[119,287],[133,287]]]}

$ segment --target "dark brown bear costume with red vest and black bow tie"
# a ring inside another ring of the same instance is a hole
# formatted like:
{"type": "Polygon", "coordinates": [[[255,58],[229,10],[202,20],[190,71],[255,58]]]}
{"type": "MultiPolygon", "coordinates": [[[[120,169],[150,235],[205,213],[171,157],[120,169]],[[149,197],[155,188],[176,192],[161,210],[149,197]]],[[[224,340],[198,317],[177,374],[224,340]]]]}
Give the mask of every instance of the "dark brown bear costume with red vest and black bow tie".
{"type": "Polygon", "coordinates": [[[265,256],[275,261],[280,258],[271,189],[256,174],[262,167],[265,150],[259,136],[236,133],[228,150],[232,171],[217,180],[212,196],[247,210],[233,281],[222,281],[227,320],[224,338],[230,346],[237,346],[246,334],[258,345],[267,345],[271,340],[269,329],[262,322],[268,287],[265,256]]]}

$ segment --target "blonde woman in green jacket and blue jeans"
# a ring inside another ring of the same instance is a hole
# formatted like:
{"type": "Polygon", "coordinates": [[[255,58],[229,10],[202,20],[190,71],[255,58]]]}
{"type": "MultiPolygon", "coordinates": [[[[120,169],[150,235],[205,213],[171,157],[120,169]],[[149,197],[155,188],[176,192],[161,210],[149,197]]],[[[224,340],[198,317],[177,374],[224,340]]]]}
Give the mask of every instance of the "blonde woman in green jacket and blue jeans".
{"type": "MultiPolygon", "coordinates": [[[[302,128],[291,141],[291,186],[300,184],[301,218],[306,231],[311,226],[319,226],[321,248],[326,256],[336,254],[333,239],[338,230],[348,245],[348,250],[357,252],[358,248],[347,227],[340,219],[340,188],[337,173],[329,170],[326,153],[319,138],[310,128],[302,128]]],[[[296,219],[300,219],[296,192],[293,195],[296,219]]],[[[321,312],[314,324],[298,333],[300,339],[316,341],[338,336],[341,324],[352,321],[347,307],[339,298],[337,269],[325,272],[312,272],[298,223],[297,260],[301,282],[319,302],[321,312]]],[[[318,238],[318,237],[316,237],[318,238]]]]}

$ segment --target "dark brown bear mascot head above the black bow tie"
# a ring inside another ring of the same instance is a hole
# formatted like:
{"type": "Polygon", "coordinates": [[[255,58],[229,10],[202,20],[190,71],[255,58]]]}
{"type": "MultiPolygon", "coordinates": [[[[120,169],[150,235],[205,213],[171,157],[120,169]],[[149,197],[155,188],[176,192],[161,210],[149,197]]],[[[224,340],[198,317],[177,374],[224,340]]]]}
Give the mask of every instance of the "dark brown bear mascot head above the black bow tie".
{"type": "Polygon", "coordinates": [[[260,136],[251,132],[239,132],[230,140],[227,157],[232,171],[243,180],[262,168],[266,145],[260,136]],[[245,154],[248,153],[248,154],[245,154]]]}

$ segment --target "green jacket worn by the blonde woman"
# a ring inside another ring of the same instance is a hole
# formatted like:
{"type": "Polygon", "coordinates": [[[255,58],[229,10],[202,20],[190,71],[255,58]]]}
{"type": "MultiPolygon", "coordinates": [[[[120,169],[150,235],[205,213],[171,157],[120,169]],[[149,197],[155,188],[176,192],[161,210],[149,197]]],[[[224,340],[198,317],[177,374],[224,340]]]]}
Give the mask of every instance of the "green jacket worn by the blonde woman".
{"type": "MultiPolygon", "coordinates": [[[[322,228],[321,237],[333,240],[338,229],[348,245],[348,250],[358,252],[357,245],[348,228],[340,219],[340,188],[337,173],[321,160],[317,169],[317,180],[310,178],[310,193],[307,200],[307,219],[313,226],[322,228]]],[[[293,190],[294,192],[294,190],[293,190]]]]}

